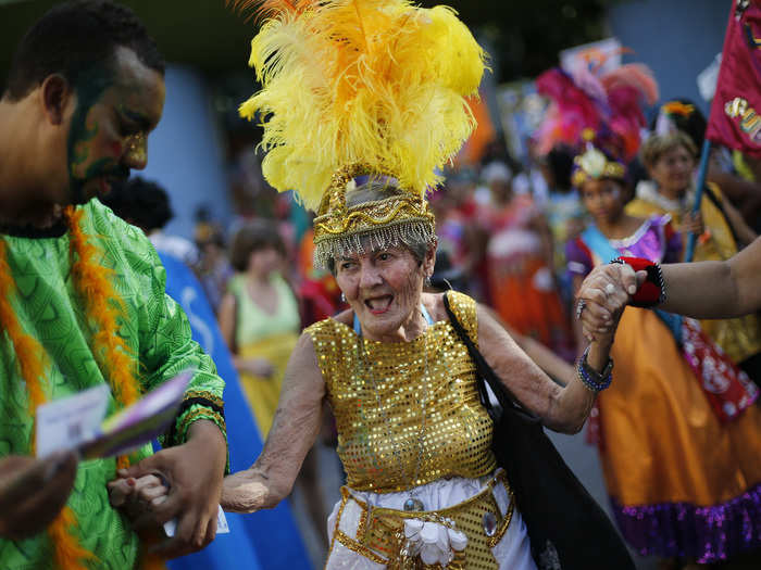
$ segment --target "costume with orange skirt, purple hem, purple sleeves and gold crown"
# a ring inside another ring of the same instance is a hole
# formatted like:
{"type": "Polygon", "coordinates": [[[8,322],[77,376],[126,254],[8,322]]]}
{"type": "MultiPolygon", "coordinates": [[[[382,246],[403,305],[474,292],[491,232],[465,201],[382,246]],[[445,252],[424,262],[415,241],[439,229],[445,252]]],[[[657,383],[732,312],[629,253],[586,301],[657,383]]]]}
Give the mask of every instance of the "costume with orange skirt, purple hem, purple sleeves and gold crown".
{"type": "MultiPolygon", "coordinates": [[[[591,149],[576,160],[574,185],[625,173],[591,149]]],[[[620,240],[592,226],[566,248],[570,273],[582,277],[619,255],[669,263],[681,252],[668,215],[620,240]]],[[[715,562],[761,545],[761,410],[745,377],[744,410],[718,413],[707,387],[727,380],[712,351],[690,319],[627,307],[619,324],[615,381],[599,395],[590,428],[619,528],[643,555],[715,562]]]]}

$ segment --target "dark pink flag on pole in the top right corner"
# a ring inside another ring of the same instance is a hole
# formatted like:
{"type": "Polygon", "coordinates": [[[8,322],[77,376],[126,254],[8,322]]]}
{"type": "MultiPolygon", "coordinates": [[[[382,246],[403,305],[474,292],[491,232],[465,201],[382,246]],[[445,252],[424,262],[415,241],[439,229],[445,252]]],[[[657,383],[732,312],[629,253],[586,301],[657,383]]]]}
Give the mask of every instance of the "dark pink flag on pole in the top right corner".
{"type": "Polygon", "coordinates": [[[761,0],[735,0],[706,138],[761,157],[761,0]]]}

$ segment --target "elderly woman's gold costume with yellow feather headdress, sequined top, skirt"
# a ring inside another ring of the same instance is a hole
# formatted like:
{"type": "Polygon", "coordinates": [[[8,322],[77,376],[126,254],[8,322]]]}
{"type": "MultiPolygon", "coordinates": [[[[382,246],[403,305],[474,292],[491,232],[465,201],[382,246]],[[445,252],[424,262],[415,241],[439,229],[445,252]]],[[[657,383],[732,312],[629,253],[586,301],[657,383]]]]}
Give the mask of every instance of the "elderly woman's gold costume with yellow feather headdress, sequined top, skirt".
{"type": "MultiPolygon", "coordinates": [[[[432,243],[426,190],[474,128],[484,53],[453,11],[407,0],[259,5],[251,64],[262,91],[262,169],[315,210],[315,265],[432,243]],[[365,181],[390,198],[351,205],[365,181]]],[[[477,339],[475,302],[454,295],[477,339]]],[[[421,307],[424,313],[424,307],[421,307]]],[[[521,515],[496,469],[475,366],[449,321],[411,342],[362,337],[357,320],[307,329],[348,476],[329,519],[326,568],[535,568],[521,515]]]]}

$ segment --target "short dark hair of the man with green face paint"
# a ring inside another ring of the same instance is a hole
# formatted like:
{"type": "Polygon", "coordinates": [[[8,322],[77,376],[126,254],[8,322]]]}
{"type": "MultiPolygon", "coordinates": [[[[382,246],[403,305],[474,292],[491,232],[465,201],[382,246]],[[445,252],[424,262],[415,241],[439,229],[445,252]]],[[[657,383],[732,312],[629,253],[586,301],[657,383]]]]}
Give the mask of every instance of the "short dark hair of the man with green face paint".
{"type": "Polygon", "coordinates": [[[163,75],[164,59],[130,9],[104,0],[57,5],[21,40],[3,97],[23,99],[55,73],[76,87],[96,66],[113,68],[117,47],[133,50],[144,65],[163,75]]]}

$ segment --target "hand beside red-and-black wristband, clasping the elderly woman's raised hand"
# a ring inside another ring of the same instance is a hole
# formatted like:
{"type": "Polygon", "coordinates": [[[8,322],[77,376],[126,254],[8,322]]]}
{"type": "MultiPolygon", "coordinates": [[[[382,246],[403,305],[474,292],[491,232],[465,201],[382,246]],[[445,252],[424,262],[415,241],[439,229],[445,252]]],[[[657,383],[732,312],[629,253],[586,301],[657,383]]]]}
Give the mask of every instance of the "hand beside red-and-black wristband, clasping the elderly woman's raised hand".
{"type": "Polygon", "coordinates": [[[635,274],[626,264],[600,265],[592,269],[576,293],[577,316],[588,341],[606,340],[615,331],[626,304],[646,278],[646,271],[635,274]]]}

